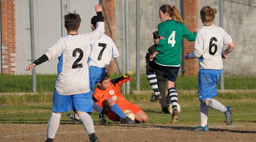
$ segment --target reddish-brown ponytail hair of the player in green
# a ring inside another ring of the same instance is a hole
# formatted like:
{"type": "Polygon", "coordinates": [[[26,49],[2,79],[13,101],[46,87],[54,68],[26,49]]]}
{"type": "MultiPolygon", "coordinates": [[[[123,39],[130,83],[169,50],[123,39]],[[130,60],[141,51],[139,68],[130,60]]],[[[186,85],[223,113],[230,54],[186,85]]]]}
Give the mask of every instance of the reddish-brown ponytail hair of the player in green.
{"type": "Polygon", "coordinates": [[[183,23],[182,17],[177,7],[171,5],[162,5],[159,10],[163,13],[168,13],[172,19],[176,19],[178,22],[183,23]]]}

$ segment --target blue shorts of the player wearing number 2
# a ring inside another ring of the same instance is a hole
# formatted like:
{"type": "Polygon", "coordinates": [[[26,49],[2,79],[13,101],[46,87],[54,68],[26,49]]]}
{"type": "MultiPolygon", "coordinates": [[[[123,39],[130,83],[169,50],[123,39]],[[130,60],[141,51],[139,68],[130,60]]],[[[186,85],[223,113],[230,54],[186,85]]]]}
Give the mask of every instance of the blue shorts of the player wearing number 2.
{"type": "Polygon", "coordinates": [[[52,112],[93,112],[90,92],[76,95],[61,95],[54,88],[52,112]]]}

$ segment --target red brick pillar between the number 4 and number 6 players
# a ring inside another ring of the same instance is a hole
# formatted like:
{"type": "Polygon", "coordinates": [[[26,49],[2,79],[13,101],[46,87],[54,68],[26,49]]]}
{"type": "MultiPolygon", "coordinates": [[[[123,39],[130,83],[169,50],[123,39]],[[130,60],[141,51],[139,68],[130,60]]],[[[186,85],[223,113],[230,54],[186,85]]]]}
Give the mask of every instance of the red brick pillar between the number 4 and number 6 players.
{"type": "MultiPolygon", "coordinates": [[[[194,32],[197,28],[197,3],[196,0],[183,0],[183,17],[184,24],[190,30],[194,32]]],[[[194,43],[184,39],[184,53],[194,51],[194,43]]],[[[184,75],[194,76],[198,74],[198,60],[189,59],[184,60],[184,75]]]]}

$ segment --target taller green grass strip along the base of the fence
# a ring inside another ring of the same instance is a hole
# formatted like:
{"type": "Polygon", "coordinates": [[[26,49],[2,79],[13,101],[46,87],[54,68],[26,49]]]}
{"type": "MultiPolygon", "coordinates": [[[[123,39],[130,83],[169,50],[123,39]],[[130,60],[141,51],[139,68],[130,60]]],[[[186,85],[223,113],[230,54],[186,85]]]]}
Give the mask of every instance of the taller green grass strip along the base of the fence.
{"type": "MultiPolygon", "coordinates": [[[[37,92],[52,92],[57,75],[36,75],[37,92]]],[[[117,78],[114,74],[111,78],[117,78]]],[[[177,90],[197,90],[197,76],[178,76],[176,81],[177,90]]],[[[145,75],[140,77],[141,90],[151,90],[145,75]]],[[[225,89],[251,90],[256,89],[256,77],[225,77],[225,89]]],[[[131,79],[131,90],[136,90],[136,75],[131,79]]],[[[218,83],[220,88],[220,83],[218,83]]],[[[0,92],[31,92],[31,75],[0,75],[0,92]]]]}

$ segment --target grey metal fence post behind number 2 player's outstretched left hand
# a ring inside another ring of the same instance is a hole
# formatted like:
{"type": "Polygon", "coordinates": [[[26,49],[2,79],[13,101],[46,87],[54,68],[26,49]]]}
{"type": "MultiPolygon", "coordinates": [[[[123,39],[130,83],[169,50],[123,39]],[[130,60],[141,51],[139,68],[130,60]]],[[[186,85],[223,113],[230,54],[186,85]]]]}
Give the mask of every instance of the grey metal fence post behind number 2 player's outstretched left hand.
{"type": "MultiPolygon", "coordinates": [[[[32,62],[36,60],[35,52],[35,26],[34,26],[34,3],[29,0],[29,19],[30,19],[30,38],[31,38],[31,59],[32,62]]],[[[32,91],[36,92],[36,68],[32,71],[32,91]]]]}

